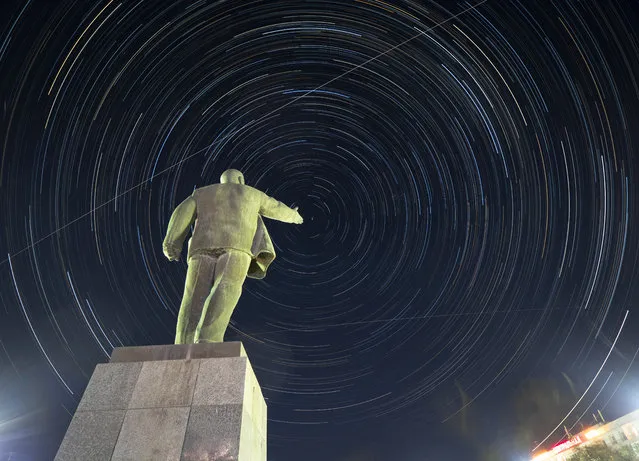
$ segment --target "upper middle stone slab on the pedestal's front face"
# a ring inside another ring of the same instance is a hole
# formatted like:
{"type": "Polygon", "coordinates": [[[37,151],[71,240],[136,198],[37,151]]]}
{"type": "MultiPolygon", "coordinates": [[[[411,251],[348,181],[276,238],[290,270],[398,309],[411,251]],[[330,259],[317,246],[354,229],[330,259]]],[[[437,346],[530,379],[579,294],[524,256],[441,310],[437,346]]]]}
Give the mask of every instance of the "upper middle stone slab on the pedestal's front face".
{"type": "Polygon", "coordinates": [[[199,367],[199,360],[144,362],[129,408],[191,405],[199,367]]]}

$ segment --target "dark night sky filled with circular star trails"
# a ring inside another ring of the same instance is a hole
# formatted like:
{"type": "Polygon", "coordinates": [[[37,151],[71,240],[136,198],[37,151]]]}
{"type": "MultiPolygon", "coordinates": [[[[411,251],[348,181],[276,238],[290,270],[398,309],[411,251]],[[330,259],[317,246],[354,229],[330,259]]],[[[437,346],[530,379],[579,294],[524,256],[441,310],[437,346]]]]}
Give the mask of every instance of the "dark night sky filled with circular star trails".
{"type": "Polygon", "coordinates": [[[639,408],[636,1],[0,11],[1,461],[53,458],[114,347],[172,343],[166,225],[227,168],[305,219],[267,221],[227,332],[269,461],[520,461],[639,408]],[[521,446],[535,379],[572,393],[521,446]]]}

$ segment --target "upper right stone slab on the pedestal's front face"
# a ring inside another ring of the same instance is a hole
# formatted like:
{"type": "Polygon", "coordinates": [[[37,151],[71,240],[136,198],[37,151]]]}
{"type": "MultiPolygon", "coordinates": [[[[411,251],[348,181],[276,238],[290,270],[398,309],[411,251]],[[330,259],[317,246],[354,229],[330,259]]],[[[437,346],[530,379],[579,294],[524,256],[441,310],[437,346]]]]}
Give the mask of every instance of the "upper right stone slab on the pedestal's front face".
{"type": "Polygon", "coordinates": [[[246,357],[202,360],[193,405],[240,405],[247,363],[246,357]]]}

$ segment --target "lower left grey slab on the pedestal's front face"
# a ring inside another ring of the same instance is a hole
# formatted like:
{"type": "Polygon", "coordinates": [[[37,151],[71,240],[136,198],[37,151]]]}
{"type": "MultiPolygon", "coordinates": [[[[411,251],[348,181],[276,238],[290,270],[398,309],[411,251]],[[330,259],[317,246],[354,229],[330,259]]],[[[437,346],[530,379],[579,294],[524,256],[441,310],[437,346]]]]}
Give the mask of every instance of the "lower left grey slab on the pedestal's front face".
{"type": "Polygon", "coordinates": [[[77,412],[55,461],[109,461],[124,413],[124,410],[77,412]]]}

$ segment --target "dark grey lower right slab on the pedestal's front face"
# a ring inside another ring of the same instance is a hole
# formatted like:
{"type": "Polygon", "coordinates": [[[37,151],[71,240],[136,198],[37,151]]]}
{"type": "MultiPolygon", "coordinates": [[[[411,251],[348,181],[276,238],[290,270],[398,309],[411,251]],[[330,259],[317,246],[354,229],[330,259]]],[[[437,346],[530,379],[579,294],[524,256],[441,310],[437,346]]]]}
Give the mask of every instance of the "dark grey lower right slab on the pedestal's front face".
{"type": "Polygon", "coordinates": [[[241,405],[192,407],[181,460],[236,461],[241,425],[241,405]]]}

